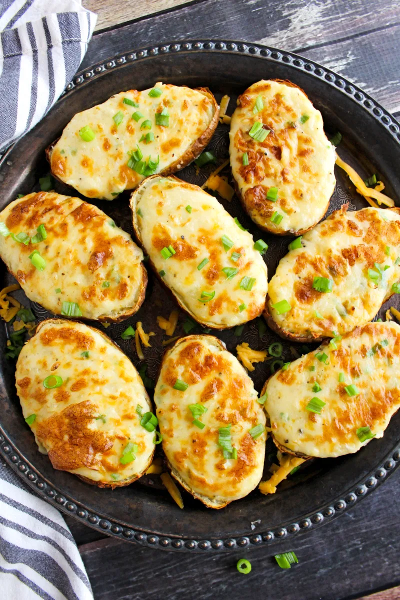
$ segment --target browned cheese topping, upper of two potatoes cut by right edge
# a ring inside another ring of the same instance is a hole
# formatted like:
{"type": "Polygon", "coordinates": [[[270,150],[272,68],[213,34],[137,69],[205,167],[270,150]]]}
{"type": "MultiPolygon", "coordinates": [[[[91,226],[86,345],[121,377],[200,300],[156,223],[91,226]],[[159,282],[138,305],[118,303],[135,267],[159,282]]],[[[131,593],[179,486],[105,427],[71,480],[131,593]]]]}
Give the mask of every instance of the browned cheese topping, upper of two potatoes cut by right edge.
{"type": "Polygon", "coordinates": [[[346,212],[344,206],[306,233],[303,247],[281,259],[269,283],[268,310],[279,327],[291,335],[332,337],[333,331],[342,334],[371,320],[400,278],[399,213],[381,208],[346,212]],[[378,279],[371,279],[368,269],[378,279]],[[313,289],[314,277],[333,280],[332,292],[313,289]],[[282,299],[291,310],[278,314],[272,304],[282,299]]]}

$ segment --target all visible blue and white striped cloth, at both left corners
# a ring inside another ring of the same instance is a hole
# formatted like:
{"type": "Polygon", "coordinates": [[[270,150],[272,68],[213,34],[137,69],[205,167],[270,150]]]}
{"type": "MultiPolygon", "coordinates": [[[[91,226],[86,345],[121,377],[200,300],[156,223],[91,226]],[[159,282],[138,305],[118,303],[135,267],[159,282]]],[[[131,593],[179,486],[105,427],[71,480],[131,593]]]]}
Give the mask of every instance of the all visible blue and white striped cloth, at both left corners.
{"type": "MultiPolygon", "coordinates": [[[[80,0],[0,0],[0,153],[62,94],[95,22],[80,0]]],[[[0,598],[93,600],[64,519],[1,458],[0,598]]]]}

